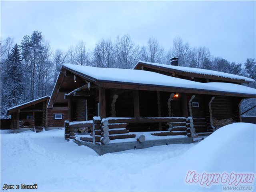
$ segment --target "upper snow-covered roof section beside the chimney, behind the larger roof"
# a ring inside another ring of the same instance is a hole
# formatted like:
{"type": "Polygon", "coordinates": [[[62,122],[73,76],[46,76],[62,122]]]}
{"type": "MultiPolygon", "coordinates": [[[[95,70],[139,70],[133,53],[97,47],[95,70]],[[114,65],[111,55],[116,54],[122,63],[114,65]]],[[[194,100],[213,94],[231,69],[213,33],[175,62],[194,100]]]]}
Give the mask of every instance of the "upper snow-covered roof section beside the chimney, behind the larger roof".
{"type": "Polygon", "coordinates": [[[149,65],[149,66],[150,65],[151,66],[156,66],[156,67],[159,67],[159,68],[168,68],[168,69],[175,70],[175,71],[180,71],[180,72],[196,73],[196,74],[202,74],[202,75],[210,75],[210,76],[217,76],[217,77],[223,77],[223,78],[244,80],[244,81],[247,81],[247,82],[255,82],[255,80],[253,80],[251,78],[248,78],[248,77],[229,74],[229,73],[224,73],[224,72],[219,72],[219,71],[214,71],[214,70],[206,70],[206,69],[199,69],[199,68],[192,68],[192,67],[182,67],[182,66],[174,66],[174,65],[165,65],[165,64],[151,63],[151,62],[145,62],[145,61],[138,62],[134,66],[134,68],[136,68],[136,66],[140,63],[141,64],[146,64],[146,65],[149,65]]]}

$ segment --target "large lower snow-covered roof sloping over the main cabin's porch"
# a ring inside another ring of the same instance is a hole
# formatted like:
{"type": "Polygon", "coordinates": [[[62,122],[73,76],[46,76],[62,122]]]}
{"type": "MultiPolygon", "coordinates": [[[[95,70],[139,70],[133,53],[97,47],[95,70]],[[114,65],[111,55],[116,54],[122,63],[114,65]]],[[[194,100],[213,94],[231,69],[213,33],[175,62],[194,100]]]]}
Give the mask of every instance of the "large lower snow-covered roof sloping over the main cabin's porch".
{"type": "Polygon", "coordinates": [[[73,64],[63,64],[64,68],[80,74],[94,82],[118,82],[121,84],[142,84],[145,86],[166,86],[194,90],[242,93],[256,96],[256,89],[222,82],[201,83],[156,72],[117,68],[96,68],[73,64]]]}

